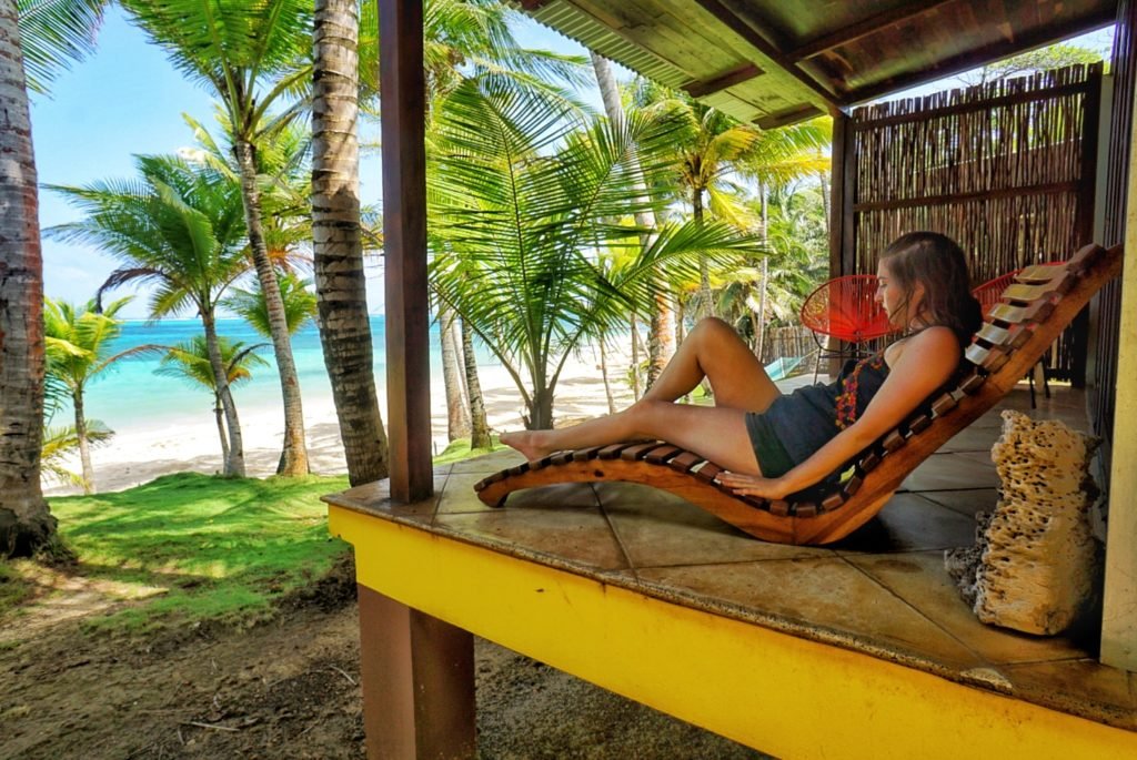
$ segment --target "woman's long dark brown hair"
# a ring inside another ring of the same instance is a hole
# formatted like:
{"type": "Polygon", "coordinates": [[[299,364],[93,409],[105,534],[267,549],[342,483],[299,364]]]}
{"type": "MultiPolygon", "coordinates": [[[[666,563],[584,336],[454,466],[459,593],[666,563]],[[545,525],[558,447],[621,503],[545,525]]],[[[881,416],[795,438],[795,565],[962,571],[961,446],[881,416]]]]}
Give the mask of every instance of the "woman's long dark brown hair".
{"type": "Polygon", "coordinates": [[[949,327],[961,346],[982,324],[982,308],[971,294],[963,250],[938,232],[910,232],[894,240],[880,257],[904,293],[905,311],[916,284],[923,285],[922,311],[928,326],[949,327]]]}

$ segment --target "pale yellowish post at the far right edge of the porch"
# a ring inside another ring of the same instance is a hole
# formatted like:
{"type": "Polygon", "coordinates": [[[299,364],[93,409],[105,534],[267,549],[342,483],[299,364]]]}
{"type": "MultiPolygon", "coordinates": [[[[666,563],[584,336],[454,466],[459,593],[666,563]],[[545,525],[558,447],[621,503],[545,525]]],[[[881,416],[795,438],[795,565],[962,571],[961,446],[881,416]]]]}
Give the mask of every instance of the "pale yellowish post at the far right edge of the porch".
{"type": "MultiPolygon", "coordinates": [[[[1134,109],[1137,114],[1137,109],[1134,109]]],[[[1130,135],[1137,136],[1137,118],[1130,135]]],[[[1137,671],[1137,434],[1128,421],[1137,417],[1137,153],[1129,158],[1126,209],[1126,258],[1121,270],[1121,326],[1118,345],[1113,457],[1110,471],[1110,519],[1105,537],[1105,592],[1102,600],[1102,662],[1137,671]]]]}

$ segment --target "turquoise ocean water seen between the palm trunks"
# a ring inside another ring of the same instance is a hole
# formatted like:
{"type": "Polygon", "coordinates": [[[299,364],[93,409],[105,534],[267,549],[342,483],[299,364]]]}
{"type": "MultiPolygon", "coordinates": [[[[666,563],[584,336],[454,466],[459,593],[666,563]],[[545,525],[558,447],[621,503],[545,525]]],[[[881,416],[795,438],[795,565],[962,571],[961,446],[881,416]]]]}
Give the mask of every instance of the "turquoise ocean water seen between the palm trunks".
{"type": "MultiPolygon", "coordinates": [[[[242,319],[219,319],[217,332],[231,340],[243,341],[247,345],[264,343],[258,354],[268,362],[265,367],[254,367],[252,379],[238,385],[234,399],[238,410],[254,412],[281,408],[280,379],[273,359],[272,344],[242,319]]],[[[385,406],[384,361],[385,328],[382,316],[371,318],[372,341],[375,346],[375,382],[380,403],[385,406]]],[[[127,321],[122,334],[111,345],[117,353],[148,343],[173,345],[202,333],[198,319],[164,319],[147,324],[127,321]]],[[[316,326],[309,324],[292,336],[292,352],[296,359],[300,389],[306,402],[331,400],[331,386],[324,368],[324,354],[319,345],[316,326]]],[[[484,351],[479,351],[479,364],[491,364],[484,351]]],[[[108,368],[86,391],[86,416],[100,419],[119,433],[139,428],[174,428],[182,423],[213,420],[213,393],[186,381],[155,374],[160,357],[141,354],[127,357],[108,368]]],[[[442,360],[438,344],[438,326],[431,326],[431,376],[441,378],[442,360]]],[[[307,412],[307,408],[306,408],[307,412]]],[[[53,424],[73,421],[70,409],[61,409],[53,424]]]]}

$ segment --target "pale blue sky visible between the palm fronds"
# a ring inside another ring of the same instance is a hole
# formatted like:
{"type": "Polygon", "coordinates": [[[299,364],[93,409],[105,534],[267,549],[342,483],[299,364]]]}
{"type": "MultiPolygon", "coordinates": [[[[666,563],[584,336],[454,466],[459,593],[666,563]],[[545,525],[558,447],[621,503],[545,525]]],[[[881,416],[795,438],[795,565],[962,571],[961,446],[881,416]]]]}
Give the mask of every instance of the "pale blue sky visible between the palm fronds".
{"type": "MultiPolygon", "coordinates": [[[[529,48],[586,52],[574,42],[529,20],[515,33],[529,48]]],[[[1112,30],[1107,30],[1079,43],[1107,51],[1111,39],[1112,30]]],[[[921,92],[949,86],[951,82],[921,87],[921,92]]],[[[595,97],[590,100],[598,102],[595,97]]],[[[176,72],[165,53],[148,44],[114,8],[99,33],[96,55],[64,73],[52,86],[50,98],[33,95],[32,130],[40,182],[85,185],[128,178],[134,175],[133,154],[173,153],[192,144],[183,112],[211,125],[209,94],[176,72]]],[[[364,130],[375,131],[375,126],[364,130]]],[[[376,202],[381,184],[377,154],[363,156],[360,183],[364,202],[376,202]]],[[[75,218],[75,211],[57,193],[41,192],[41,227],[75,218]]],[[[116,261],[92,248],[44,240],[43,265],[48,295],[82,302],[94,295],[116,261]]],[[[375,267],[368,272],[368,303],[373,312],[382,310],[382,284],[375,267]]],[[[136,299],[124,314],[143,318],[146,299],[136,299]]]]}

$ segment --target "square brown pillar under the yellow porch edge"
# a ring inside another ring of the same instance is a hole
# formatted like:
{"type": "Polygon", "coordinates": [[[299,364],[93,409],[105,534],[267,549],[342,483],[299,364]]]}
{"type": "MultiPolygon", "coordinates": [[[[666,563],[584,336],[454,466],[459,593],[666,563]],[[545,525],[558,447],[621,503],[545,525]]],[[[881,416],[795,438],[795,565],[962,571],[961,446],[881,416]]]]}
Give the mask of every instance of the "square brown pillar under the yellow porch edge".
{"type": "Polygon", "coordinates": [[[473,758],[473,635],[367,586],[358,588],[367,757],[473,758]]]}

